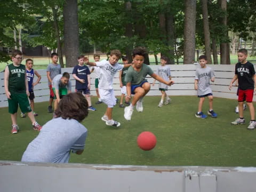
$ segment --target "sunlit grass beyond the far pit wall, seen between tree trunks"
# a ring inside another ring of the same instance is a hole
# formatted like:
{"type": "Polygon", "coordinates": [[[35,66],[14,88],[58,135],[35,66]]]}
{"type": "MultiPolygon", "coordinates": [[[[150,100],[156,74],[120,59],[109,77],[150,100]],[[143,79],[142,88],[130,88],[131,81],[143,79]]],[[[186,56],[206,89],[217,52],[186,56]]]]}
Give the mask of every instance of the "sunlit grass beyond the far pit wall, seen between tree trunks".
{"type": "MultiPolygon", "coordinates": [[[[90,61],[93,61],[93,55],[88,55],[90,61]]],[[[22,64],[25,64],[25,60],[26,59],[33,59],[34,60],[34,68],[35,69],[46,69],[47,65],[49,65],[49,63],[51,62],[51,58],[47,58],[47,57],[24,57],[24,60],[22,61],[22,64]]],[[[106,55],[101,55],[101,59],[106,59],[106,55]]],[[[218,59],[220,60],[220,57],[218,55],[218,59]]],[[[256,57],[248,57],[249,61],[253,61],[252,63],[256,64],[256,57]]],[[[150,63],[152,63],[153,65],[155,64],[155,58],[154,55],[149,55],[149,61],[150,63]]],[[[179,62],[182,62],[183,59],[179,59],[179,62]]],[[[237,55],[230,55],[230,61],[231,64],[235,64],[237,63],[237,55]]],[[[65,57],[63,57],[63,62],[66,63],[65,57]]],[[[158,62],[160,62],[160,55],[158,55],[158,62]]],[[[220,61],[219,61],[220,62],[220,61]]],[[[8,63],[11,63],[11,61],[9,61],[8,63]]],[[[182,64],[182,63],[180,63],[182,64]]],[[[0,71],[2,71],[6,66],[6,63],[1,63],[0,62],[0,71]]]]}

